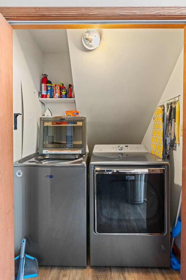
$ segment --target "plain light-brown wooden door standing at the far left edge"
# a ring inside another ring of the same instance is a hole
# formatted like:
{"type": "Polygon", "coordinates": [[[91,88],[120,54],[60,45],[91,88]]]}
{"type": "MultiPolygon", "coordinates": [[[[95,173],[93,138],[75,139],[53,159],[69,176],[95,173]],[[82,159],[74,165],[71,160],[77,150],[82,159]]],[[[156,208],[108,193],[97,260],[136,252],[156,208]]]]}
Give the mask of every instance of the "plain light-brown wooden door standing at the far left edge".
{"type": "Polygon", "coordinates": [[[0,278],[14,279],[12,28],[0,15],[0,278]]]}

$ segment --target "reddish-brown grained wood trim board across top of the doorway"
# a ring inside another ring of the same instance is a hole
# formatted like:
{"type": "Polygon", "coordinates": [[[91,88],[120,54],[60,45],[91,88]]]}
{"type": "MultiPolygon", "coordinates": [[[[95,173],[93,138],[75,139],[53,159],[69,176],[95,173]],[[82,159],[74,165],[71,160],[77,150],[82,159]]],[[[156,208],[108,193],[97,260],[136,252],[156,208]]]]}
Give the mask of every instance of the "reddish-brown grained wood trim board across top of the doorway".
{"type": "Polygon", "coordinates": [[[185,7],[0,7],[6,20],[186,20],[185,7]]]}

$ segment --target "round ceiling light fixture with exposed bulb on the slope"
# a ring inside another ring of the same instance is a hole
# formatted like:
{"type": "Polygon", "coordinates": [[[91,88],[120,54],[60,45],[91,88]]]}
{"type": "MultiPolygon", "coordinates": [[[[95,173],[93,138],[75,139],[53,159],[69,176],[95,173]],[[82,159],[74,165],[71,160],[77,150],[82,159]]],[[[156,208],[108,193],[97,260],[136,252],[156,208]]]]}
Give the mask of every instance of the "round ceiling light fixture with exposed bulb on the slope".
{"type": "Polygon", "coordinates": [[[87,29],[83,34],[83,45],[89,50],[94,50],[99,46],[100,36],[94,29],[87,29]]]}

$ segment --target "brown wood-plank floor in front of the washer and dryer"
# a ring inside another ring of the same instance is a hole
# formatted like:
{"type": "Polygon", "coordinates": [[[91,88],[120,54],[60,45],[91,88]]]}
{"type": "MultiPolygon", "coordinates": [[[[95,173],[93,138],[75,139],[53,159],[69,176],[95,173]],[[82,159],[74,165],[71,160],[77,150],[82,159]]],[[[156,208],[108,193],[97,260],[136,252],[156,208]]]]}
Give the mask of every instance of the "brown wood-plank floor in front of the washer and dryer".
{"type": "Polygon", "coordinates": [[[31,280],[179,280],[180,271],[157,267],[39,266],[31,280]]]}

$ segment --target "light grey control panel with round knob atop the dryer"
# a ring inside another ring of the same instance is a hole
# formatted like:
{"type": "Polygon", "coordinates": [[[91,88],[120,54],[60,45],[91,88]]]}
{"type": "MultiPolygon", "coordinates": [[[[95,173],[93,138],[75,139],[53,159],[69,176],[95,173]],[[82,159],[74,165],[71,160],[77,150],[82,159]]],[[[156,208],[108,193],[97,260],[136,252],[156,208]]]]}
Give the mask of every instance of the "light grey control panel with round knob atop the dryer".
{"type": "Polygon", "coordinates": [[[121,152],[122,153],[148,153],[147,148],[140,144],[124,144],[124,145],[95,145],[93,153],[110,153],[110,152],[121,152]]]}

